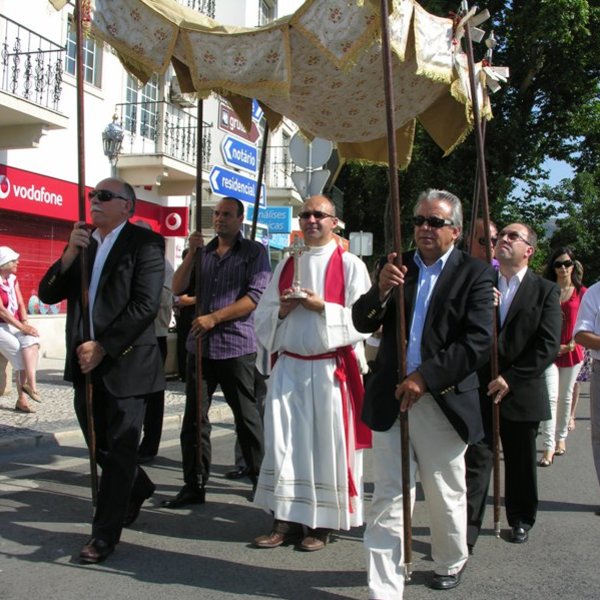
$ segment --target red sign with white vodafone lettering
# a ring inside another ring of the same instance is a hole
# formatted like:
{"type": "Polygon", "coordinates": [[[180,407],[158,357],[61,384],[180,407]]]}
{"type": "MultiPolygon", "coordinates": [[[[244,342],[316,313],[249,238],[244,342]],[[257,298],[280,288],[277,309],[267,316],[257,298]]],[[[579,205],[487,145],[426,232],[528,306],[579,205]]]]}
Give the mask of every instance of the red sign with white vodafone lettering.
{"type": "Polygon", "coordinates": [[[0,165],[0,209],[77,221],[77,185],[0,165]]]}

